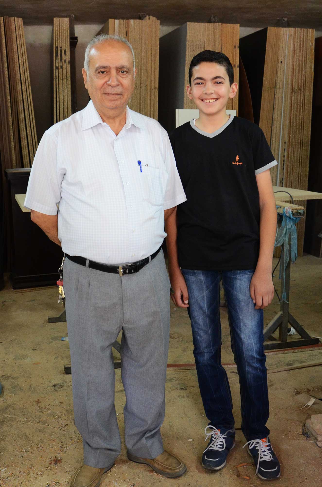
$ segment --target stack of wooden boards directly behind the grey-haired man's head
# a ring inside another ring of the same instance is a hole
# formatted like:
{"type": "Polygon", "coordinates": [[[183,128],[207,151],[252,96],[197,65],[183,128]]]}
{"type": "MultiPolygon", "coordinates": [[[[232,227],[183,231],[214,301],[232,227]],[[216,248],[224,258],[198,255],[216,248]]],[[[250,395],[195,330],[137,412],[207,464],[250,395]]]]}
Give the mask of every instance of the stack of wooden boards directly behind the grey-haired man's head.
{"type": "Polygon", "coordinates": [[[158,118],[160,21],[109,19],[99,34],[125,37],[132,45],[137,75],[129,108],[148,117],[158,118]]]}

